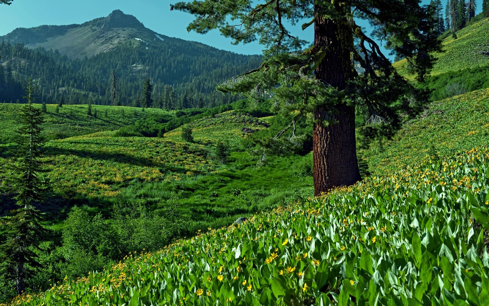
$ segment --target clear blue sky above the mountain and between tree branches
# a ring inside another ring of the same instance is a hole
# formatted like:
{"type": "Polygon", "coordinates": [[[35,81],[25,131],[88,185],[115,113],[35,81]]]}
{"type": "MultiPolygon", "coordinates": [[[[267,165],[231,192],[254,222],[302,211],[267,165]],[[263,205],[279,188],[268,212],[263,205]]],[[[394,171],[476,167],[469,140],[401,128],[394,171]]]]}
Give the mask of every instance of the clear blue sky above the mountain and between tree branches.
{"type": "MultiPolygon", "coordinates": [[[[0,36],[17,27],[34,27],[42,24],[82,24],[95,18],[108,16],[120,9],[135,16],[146,27],[170,36],[192,40],[243,54],[260,54],[263,49],[257,42],[246,45],[231,45],[230,40],[214,30],[205,35],[187,32],[186,26],[192,16],[179,11],[170,11],[170,3],[178,0],[14,0],[8,6],[0,4],[0,36]]],[[[429,0],[423,0],[423,3],[429,0]]],[[[481,1],[478,1],[481,2],[481,1]]],[[[478,3],[480,6],[480,3],[478,3]]],[[[480,12],[480,8],[477,13],[480,12]]],[[[367,24],[362,24],[366,26],[367,24]]],[[[302,31],[300,25],[292,34],[312,41],[312,26],[302,31]]],[[[387,55],[387,51],[385,54],[387,55]]]]}

